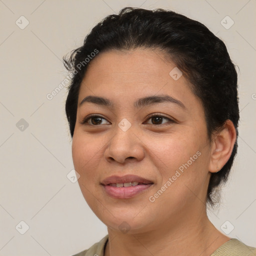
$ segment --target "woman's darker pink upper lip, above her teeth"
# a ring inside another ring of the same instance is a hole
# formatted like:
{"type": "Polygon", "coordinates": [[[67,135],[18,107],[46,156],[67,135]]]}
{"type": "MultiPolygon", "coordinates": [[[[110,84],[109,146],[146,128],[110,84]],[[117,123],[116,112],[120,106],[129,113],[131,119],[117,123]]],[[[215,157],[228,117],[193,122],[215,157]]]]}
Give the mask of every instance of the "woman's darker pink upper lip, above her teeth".
{"type": "Polygon", "coordinates": [[[148,180],[146,178],[136,176],[136,175],[124,175],[124,176],[109,176],[101,182],[102,185],[108,185],[111,183],[128,183],[128,182],[138,182],[138,183],[144,183],[144,184],[151,184],[153,181],[148,180]]]}

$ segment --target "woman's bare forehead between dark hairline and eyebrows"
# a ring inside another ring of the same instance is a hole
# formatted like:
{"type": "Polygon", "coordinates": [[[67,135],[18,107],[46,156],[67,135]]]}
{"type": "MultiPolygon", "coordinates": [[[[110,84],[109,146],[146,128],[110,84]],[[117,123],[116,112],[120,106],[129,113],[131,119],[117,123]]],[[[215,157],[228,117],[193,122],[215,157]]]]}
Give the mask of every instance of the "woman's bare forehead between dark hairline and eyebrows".
{"type": "Polygon", "coordinates": [[[181,71],[177,73],[180,77],[173,79],[176,78],[172,76],[176,70],[175,64],[167,61],[164,53],[155,49],[99,52],[88,64],[80,92],[111,92],[117,96],[123,93],[135,96],[146,91],[153,94],[158,91],[179,94],[187,90],[190,92],[189,82],[183,75],[180,76],[181,71]]]}

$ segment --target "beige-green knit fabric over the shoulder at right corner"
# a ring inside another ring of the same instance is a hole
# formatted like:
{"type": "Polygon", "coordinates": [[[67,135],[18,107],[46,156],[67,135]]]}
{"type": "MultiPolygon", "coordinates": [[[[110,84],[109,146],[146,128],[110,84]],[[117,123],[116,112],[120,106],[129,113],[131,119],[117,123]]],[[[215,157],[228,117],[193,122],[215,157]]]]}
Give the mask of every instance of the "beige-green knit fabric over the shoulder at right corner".
{"type": "Polygon", "coordinates": [[[210,256],[254,256],[256,248],[232,238],[217,248],[210,256]]]}

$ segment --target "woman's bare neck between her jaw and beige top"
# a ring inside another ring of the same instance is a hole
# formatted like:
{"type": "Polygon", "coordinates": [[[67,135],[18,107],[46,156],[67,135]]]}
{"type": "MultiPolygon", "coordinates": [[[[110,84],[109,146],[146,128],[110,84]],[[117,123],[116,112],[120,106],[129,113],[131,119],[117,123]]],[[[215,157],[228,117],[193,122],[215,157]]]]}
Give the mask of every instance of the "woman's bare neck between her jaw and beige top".
{"type": "Polygon", "coordinates": [[[172,219],[146,232],[124,234],[108,228],[108,235],[104,256],[204,256],[230,239],[212,225],[204,211],[200,216],[192,212],[183,217],[179,214],[178,221],[172,219]]]}

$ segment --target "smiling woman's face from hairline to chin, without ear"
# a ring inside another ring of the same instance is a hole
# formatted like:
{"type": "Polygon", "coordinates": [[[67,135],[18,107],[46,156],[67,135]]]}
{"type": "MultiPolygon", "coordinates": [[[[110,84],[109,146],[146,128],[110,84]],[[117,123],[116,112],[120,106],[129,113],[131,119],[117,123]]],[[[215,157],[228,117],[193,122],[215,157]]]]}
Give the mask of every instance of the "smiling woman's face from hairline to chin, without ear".
{"type": "Polygon", "coordinates": [[[178,71],[152,49],[99,52],[86,71],[72,157],[85,200],[109,228],[153,230],[204,211],[211,145],[178,71]]]}

